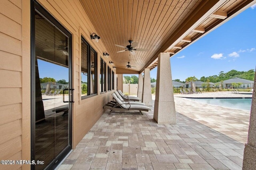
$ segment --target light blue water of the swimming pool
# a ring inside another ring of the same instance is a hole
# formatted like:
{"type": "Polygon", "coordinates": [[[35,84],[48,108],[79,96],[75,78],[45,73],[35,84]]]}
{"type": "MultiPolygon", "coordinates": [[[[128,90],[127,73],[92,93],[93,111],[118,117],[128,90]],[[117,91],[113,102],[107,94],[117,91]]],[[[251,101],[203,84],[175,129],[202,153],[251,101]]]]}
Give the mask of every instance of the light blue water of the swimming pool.
{"type": "Polygon", "coordinates": [[[251,110],[252,99],[190,99],[196,102],[212,104],[234,109],[251,110]]]}

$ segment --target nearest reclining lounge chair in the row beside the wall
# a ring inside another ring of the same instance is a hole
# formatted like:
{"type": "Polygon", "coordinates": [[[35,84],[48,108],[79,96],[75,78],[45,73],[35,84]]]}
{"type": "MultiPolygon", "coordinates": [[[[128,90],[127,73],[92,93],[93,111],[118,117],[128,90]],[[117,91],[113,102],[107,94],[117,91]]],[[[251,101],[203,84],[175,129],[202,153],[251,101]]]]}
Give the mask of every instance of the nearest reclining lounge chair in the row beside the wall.
{"type": "Polygon", "coordinates": [[[138,104],[125,104],[119,98],[116,98],[116,104],[108,102],[103,108],[110,109],[110,114],[112,111],[140,111],[140,114],[143,115],[142,111],[151,110],[148,106],[142,106],[138,104]]]}

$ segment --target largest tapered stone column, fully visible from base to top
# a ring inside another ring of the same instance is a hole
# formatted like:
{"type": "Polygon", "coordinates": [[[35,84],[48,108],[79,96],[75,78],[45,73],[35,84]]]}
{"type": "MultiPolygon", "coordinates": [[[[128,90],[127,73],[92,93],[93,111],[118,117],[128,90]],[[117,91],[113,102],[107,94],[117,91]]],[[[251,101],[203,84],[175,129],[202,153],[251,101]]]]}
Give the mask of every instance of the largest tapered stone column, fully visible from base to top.
{"type": "Polygon", "coordinates": [[[158,55],[154,119],[157,123],[176,124],[169,53],[158,55]]]}

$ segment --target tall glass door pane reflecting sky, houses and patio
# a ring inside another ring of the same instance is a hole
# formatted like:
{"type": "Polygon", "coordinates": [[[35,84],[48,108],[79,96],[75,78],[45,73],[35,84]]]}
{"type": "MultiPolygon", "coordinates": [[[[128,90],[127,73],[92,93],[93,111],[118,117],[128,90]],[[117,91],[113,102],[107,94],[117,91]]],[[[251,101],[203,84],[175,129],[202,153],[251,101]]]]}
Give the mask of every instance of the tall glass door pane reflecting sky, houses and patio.
{"type": "Polygon", "coordinates": [[[71,35],[60,30],[42,13],[35,12],[32,159],[44,161],[32,166],[36,170],[53,168],[71,150],[71,35]]]}

